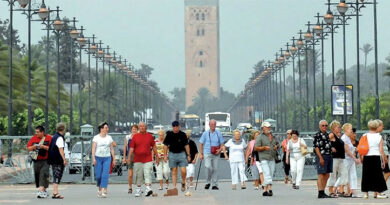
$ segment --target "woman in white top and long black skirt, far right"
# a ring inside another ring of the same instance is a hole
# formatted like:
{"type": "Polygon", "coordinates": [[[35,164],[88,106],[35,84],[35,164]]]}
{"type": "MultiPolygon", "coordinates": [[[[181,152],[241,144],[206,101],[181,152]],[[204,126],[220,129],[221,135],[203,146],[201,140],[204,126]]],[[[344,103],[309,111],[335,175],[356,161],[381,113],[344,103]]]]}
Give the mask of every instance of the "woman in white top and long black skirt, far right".
{"type": "Polygon", "coordinates": [[[368,122],[370,132],[366,134],[369,151],[364,157],[360,156],[363,161],[362,192],[365,192],[364,198],[369,197],[368,192],[374,192],[374,198],[385,199],[386,195],[382,192],[387,190],[385,178],[382,169],[387,163],[387,157],[383,151],[383,139],[377,132],[379,123],[376,120],[368,122]],[[382,157],[382,160],[381,160],[382,157]]]}

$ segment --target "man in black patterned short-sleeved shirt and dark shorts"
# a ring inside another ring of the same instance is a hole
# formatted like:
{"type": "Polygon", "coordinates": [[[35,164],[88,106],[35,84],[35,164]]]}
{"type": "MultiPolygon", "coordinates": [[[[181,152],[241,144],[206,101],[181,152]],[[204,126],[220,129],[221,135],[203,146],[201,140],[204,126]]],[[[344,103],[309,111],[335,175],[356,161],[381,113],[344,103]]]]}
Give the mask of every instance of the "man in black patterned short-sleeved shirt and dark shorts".
{"type": "Polygon", "coordinates": [[[316,168],[317,168],[317,188],[318,198],[331,198],[325,194],[326,182],[329,174],[333,171],[332,145],[329,139],[328,122],[321,120],[319,122],[320,131],[314,135],[313,146],[316,153],[316,168]]]}

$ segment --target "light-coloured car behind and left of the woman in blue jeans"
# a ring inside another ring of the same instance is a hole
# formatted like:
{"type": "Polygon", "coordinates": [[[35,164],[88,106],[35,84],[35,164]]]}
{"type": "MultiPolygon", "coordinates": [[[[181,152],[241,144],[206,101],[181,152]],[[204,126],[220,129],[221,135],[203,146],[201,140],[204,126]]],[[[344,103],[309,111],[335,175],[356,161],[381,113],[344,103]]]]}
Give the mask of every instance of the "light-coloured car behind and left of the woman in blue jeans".
{"type": "Polygon", "coordinates": [[[77,142],[72,147],[69,160],[69,174],[76,174],[76,172],[81,173],[84,163],[84,174],[89,176],[91,170],[91,142],[84,141],[83,149],[81,145],[81,142],[77,142]],[[82,158],[84,158],[83,163],[82,158]]]}

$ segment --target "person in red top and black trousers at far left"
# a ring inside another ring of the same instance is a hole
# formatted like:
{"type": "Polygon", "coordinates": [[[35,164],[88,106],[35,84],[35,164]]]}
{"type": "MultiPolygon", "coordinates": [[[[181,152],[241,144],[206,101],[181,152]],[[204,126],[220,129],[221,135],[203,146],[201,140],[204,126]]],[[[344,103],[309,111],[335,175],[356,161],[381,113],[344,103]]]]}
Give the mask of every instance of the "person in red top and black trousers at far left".
{"type": "Polygon", "coordinates": [[[37,126],[35,135],[27,143],[27,150],[37,154],[36,159],[33,159],[35,186],[39,188],[37,198],[46,198],[48,195],[46,191],[49,187],[49,164],[47,163],[47,158],[51,140],[52,137],[45,134],[45,128],[37,126]]]}

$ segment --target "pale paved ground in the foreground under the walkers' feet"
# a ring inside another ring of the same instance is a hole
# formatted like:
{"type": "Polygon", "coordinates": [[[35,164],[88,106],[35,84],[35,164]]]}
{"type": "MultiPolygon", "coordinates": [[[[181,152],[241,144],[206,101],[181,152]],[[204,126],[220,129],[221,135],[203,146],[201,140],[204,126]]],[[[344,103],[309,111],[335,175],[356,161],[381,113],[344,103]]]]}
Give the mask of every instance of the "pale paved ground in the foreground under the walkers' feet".
{"type": "MultiPolygon", "coordinates": [[[[388,186],[390,183],[388,183],[388,186]]],[[[157,185],[154,185],[156,187],[157,185]]],[[[157,197],[139,197],[127,194],[127,185],[110,184],[108,198],[99,199],[96,196],[94,185],[60,186],[60,193],[64,200],[37,199],[33,185],[0,186],[0,204],[390,204],[389,199],[317,199],[316,181],[304,181],[300,190],[294,190],[290,185],[276,182],[273,187],[273,197],[261,196],[261,191],[252,189],[250,182],[246,190],[231,190],[230,182],[221,182],[219,191],[204,190],[204,183],[200,183],[198,190],[191,190],[192,196],[185,197],[183,192],[179,196],[163,197],[163,191],[157,191],[157,197]]],[[[51,187],[49,192],[51,193],[51,187]]]]}

